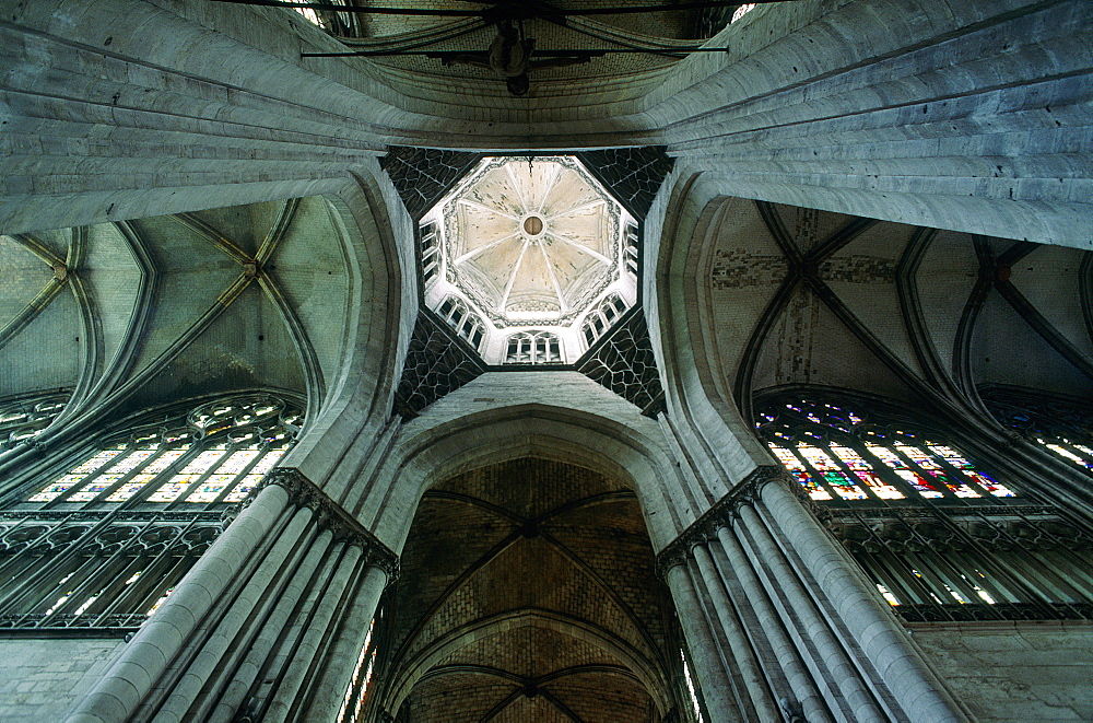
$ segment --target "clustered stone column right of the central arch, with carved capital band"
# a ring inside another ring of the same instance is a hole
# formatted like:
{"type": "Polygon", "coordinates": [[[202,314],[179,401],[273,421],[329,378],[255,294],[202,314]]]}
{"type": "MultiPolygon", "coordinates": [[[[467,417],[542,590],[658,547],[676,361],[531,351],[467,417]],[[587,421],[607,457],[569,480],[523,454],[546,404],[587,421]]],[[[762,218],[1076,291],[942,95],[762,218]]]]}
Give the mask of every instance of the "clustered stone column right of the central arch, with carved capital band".
{"type": "Polygon", "coordinates": [[[660,555],[709,715],[965,720],[792,485],[756,469],[660,555]]]}

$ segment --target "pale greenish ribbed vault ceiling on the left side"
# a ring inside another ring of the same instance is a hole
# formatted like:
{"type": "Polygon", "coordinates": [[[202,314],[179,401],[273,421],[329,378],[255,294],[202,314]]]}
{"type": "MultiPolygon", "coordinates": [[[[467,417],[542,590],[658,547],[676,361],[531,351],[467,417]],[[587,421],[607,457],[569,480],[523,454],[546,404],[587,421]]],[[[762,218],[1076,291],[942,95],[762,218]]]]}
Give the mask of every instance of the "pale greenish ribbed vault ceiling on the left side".
{"type": "Polygon", "coordinates": [[[246,387],[321,400],[350,279],[320,198],[0,236],[0,396],[66,415],[246,387]]]}

